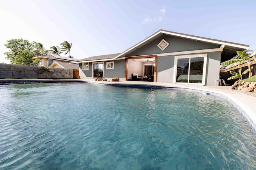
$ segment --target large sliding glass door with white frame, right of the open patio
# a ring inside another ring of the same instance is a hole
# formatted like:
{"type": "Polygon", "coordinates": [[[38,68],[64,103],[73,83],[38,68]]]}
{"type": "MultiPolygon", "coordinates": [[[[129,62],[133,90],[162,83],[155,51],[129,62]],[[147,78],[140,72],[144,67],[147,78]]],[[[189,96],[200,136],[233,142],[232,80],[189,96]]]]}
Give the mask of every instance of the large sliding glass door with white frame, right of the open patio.
{"type": "Polygon", "coordinates": [[[175,56],[174,82],[205,83],[207,54],[175,56]]]}

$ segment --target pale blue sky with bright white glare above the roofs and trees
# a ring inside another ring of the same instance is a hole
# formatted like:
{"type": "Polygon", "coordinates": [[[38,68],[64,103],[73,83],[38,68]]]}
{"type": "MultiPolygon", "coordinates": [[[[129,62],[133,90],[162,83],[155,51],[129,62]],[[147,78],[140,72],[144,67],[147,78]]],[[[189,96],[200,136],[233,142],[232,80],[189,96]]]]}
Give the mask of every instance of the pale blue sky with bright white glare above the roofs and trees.
{"type": "Polygon", "coordinates": [[[9,63],[10,39],[46,49],[68,41],[84,59],[121,53],[159,29],[256,49],[256,0],[0,0],[0,23],[0,63],[9,63]]]}

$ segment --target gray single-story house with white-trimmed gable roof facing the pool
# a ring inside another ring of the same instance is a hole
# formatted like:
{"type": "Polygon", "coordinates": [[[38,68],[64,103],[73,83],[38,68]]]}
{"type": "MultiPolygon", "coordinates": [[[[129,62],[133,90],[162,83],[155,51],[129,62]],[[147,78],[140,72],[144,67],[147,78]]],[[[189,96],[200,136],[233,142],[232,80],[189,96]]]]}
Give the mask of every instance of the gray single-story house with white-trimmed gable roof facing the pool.
{"type": "Polygon", "coordinates": [[[248,45],[159,30],[126,51],[89,57],[79,63],[81,78],[114,78],[163,83],[218,86],[220,63],[248,49],[248,45]]]}

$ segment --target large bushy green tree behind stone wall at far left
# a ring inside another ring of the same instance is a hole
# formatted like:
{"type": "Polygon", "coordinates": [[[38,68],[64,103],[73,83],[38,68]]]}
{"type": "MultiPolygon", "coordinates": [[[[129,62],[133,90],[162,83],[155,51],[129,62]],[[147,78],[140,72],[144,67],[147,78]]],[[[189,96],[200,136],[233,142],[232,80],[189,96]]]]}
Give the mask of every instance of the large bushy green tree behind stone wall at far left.
{"type": "Polygon", "coordinates": [[[5,46],[9,51],[4,53],[6,59],[10,60],[10,64],[37,65],[38,61],[31,60],[34,57],[35,44],[36,42],[30,43],[25,39],[8,40],[5,46]]]}

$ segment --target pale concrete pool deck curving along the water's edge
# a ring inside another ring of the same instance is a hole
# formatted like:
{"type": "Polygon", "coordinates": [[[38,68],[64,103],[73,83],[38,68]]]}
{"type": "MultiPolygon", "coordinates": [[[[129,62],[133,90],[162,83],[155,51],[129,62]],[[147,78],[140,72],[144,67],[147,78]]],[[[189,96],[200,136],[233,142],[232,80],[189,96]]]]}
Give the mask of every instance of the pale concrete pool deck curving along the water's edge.
{"type": "Polygon", "coordinates": [[[0,79],[0,84],[8,83],[47,83],[47,82],[87,82],[96,83],[104,85],[113,86],[152,86],[152,87],[162,87],[162,88],[182,88],[188,90],[199,90],[202,92],[213,93],[216,96],[228,100],[233,106],[235,106],[245,119],[250,123],[254,132],[256,132],[256,97],[243,94],[231,90],[222,90],[217,88],[211,88],[208,86],[202,86],[198,84],[172,84],[172,83],[159,83],[159,82],[143,82],[143,81],[119,81],[119,82],[109,82],[109,81],[95,81],[93,79],[0,79]]]}

